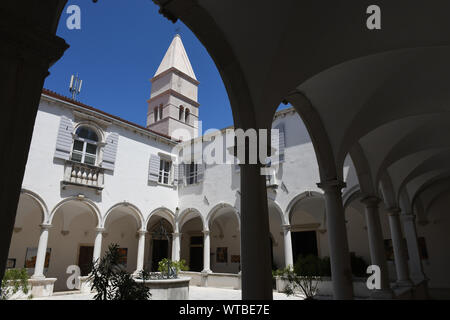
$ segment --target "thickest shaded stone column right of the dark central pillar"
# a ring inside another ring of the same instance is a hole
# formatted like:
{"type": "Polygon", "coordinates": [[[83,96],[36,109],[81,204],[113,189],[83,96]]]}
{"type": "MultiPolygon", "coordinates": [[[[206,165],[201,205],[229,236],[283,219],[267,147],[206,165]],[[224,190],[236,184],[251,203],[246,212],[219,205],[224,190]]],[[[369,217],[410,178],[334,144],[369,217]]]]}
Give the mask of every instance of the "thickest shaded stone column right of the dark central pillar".
{"type": "Polygon", "coordinates": [[[345,183],[332,180],[317,186],[324,191],[325,197],[333,297],[338,300],[353,299],[353,279],[341,191],[345,183]]]}

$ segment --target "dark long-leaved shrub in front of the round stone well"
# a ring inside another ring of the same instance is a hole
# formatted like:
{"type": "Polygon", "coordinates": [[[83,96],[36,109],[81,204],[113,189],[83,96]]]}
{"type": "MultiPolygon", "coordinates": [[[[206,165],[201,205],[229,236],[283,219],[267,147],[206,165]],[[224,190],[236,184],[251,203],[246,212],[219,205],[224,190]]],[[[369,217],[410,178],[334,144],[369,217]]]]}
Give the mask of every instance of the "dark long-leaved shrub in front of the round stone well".
{"type": "Polygon", "coordinates": [[[119,246],[111,244],[105,256],[96,261],[92,267],[89,280],[92,289],[97,291],[95,300],[148,300],[150,289],[145,285],[149,279],[147,272],[140,272],[139,277],[144,282],[138,283],[120,264],[119,246]]]}

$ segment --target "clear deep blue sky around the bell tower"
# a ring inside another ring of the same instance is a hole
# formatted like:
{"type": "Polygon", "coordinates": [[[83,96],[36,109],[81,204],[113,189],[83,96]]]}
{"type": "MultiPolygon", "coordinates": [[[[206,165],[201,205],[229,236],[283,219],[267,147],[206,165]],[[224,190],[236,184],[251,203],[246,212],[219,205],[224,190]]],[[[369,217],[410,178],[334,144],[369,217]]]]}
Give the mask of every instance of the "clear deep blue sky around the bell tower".
{"type": "MultiPolygon", "coordinates": [[[[182,23],[173,24],[158,13],[151,0],[68,1],[81,8],[81,30],[69,30],[64,10],[58,36],[70,45],[50,69],[44,87],[70,96],[70,76],[83,79],[81,102],[145,126],[150,81],[180,28],[183,44],[200,81],[200,119],[203,130],[233,124],[230,103],[203,45],[182,23]]],[[[67,8],[66,6],[66,8],[67,8]]]]}

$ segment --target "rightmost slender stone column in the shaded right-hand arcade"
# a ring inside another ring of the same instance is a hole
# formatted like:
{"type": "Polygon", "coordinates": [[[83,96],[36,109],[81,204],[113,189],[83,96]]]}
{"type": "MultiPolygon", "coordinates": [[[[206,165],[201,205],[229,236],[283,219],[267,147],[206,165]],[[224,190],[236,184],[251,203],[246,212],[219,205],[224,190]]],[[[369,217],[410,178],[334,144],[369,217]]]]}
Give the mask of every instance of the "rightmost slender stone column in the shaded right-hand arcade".
{"type": "Polygon", "coordinates": [[[427,280],[420,259],[419,243],[417,240],[416,216],[413,214],[402,214],[403,231],[405,232],[406,244],[408,246],[410,276],[413,282],[420,283],[427,280]]]}

